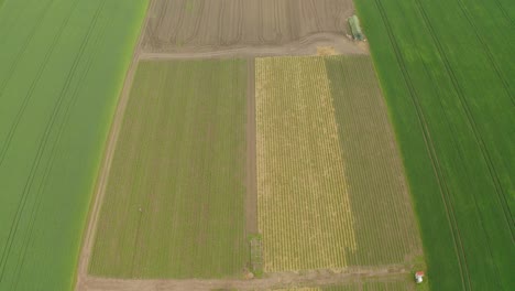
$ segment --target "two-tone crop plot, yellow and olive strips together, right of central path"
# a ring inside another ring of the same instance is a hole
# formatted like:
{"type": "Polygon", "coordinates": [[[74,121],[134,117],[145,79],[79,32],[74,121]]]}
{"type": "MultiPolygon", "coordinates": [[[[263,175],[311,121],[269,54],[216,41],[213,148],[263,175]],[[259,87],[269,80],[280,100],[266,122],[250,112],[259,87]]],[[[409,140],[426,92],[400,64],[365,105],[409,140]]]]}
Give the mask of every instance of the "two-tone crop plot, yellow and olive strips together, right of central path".
{"type": "Polygon", "coordinates": [[[421,256],[404,170],[366,56],[256,58],[264,270],[421,256]]]}

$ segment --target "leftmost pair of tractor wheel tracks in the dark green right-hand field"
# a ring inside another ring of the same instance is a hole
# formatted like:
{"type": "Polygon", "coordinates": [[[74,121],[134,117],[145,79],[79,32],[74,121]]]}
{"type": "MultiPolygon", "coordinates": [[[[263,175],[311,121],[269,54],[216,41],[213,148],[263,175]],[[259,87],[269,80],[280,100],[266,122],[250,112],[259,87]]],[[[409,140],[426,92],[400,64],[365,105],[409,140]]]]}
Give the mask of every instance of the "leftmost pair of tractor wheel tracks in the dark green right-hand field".
{"type": "Polygon", "coordinates": [[[415,87],[414,87],[414,85],[413,85],[413,83],[410,80],[409,74],[408,74],[406,65],[404,63],[404,58],[403,58],[403,56],[401,54],[401,48],[398,47],[398,44],[395,41],[395,36],[393,35],[393,30],[392,30],[392,26],[390,24],[390,21],[388,21],[387,17],[386,17],[386,12],[384,11],[384,8],[383,8],[380,0],[375,0],[375,4],[377,7],[377,10],[381,13],[381,18],[383,20],[383,23],[385,24],[385,29],[386,29],[390,42],[392,44],[392,47],[394,48],[397,63],[399,65],[401,72],[402,72],[402,74],[404,76],[404,80],[405,80],[406,86],[407,86],[408,91],[409,91],[409,96],[410,96],[412,101],[413,101],[413,104],[414,104],[414,106],[416,108],[416,114],[417,114],[417,117],[418,117],[420,128],[423,129],[421,132],[423,132],[424,141],[425,141],[426,148],[427,148],[427,150],[429,152],[429,157],[430,157],[432,168],[434,168],[434,171],[435,171],[435,174],[436,174],[436,177],[437,177],[437,182],[438,182],[438,185],[440,187],[440,195],[441,195],[445,208],[446,208],[446,214],[447,214],[447,218],[448,218],[448,222],[449,222],[449,226],[451,228],[452,240],[454,242],[454,250],[456,250],[459,267],[460,267],[460,277],[461,277],[460,279],[461,279],[461,282],[462,282],[462,287],[463,287],[464,290],[470,290],[471,289],[471,282],[470,282],[470,276],[469,276],[469,270],[468,270],[468,266],[467,266],[467,257],[464,255],[463,246],[462,246],[462,242],[461,242],[461,235],[460,235],[459,228],[457,226],[453,206],[452,206],[452,204],[450,202],[450,198],[449,198],[449,193],[448,193],[449,190],[448,190],[448,186],[447,186],[447,182],[446,182],[443,175],[441,174],[440,162],[439,162],[438,157],[437,157],[436,151],[435,151],[435,146],[434,146],[434,142],[432,142],[432,138],[430,137],[430,132],[429,132],[427,121],[426,121],[426,118],[424,116],[424,111],[421,109],[421,106],[418,103],[418,97],[417,97],[418,94],[416,93],[415,87]]]}

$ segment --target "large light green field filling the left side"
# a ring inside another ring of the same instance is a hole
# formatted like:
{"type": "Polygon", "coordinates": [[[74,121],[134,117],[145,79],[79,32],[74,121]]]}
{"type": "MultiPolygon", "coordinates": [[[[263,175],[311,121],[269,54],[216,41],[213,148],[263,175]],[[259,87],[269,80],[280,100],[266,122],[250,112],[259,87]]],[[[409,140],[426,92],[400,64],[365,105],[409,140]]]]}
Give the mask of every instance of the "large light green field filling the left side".
{"type": "Polygon", "coordinates": [[[138,0],[0,1],[0,290],[73,288],[145,9],[138,0]]]}

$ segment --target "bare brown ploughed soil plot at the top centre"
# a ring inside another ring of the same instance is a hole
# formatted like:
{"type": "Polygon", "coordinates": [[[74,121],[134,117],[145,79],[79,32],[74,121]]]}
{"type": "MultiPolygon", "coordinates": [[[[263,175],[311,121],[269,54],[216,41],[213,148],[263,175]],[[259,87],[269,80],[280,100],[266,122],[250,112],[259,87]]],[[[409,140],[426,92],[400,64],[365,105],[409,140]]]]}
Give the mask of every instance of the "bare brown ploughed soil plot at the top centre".
{"type": "Polygon", "coordinates": [[[155,0],[145,52],[285,45],[318,33],[348,33],[351,0],[155,0]]]}

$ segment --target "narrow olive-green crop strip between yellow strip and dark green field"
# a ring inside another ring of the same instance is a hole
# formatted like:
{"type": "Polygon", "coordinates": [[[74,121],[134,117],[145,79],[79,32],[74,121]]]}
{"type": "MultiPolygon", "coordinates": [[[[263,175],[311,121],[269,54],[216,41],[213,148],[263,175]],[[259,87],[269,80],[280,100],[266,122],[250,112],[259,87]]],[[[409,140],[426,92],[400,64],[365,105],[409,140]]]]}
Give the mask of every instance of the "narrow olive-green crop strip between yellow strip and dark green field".
{"type": "Polygon", "coordinates": [[[370,56],[326,57],[354,214],[351,265],[412,262],[421,255],[407,182],[370,56]]]}

